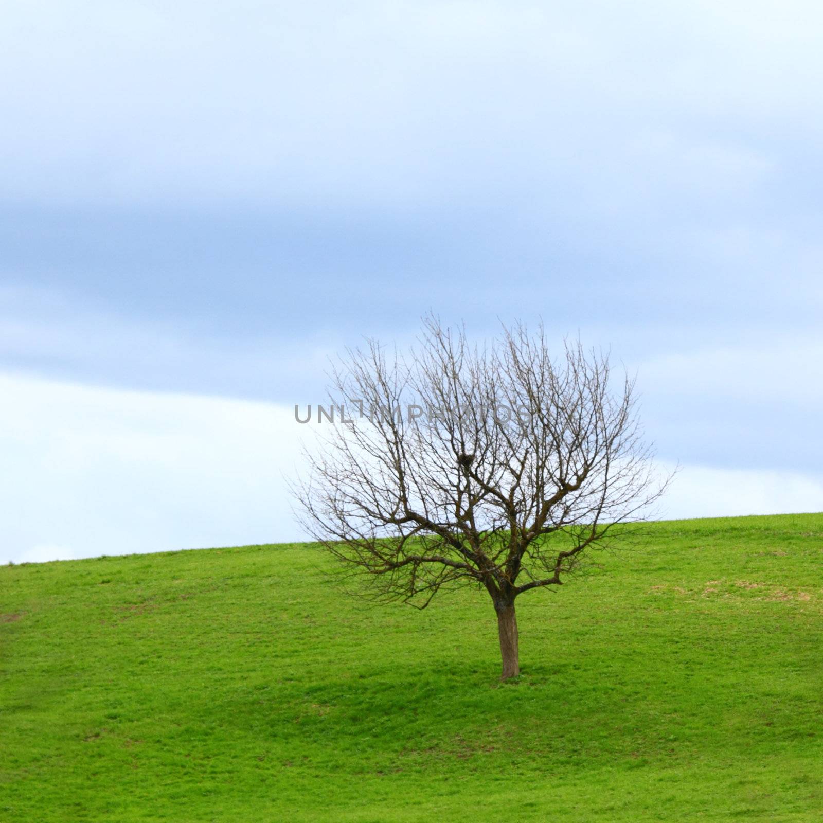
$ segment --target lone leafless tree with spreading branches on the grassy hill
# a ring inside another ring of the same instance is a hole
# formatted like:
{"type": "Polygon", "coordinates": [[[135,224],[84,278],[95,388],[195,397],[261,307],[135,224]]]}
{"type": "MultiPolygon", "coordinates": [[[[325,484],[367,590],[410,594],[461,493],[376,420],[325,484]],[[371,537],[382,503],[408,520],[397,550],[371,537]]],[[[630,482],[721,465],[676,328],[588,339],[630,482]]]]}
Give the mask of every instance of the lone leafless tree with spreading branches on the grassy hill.
{"type": "Polygon", "coordinates": [[[542,326],[472,346],[428,318],[405,355],[370,341],[331,378],[322,448],[294,488],[306,528],[364,594],[422,608],[446,587],[485,590],[503,679],[519,674],[516,598],[614,545],[666,485],[634,381],[611,393],[608,357],[579,342],[552,358],[542,326]]]}

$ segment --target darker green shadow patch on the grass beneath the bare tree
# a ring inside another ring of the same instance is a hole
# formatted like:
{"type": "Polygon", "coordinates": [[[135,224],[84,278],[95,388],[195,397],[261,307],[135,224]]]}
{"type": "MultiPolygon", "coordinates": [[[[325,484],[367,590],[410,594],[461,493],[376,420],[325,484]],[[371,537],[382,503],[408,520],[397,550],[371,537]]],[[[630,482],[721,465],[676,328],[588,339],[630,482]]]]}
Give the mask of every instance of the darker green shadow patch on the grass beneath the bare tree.
{"type": "Polygon", "coordinates": [[[384,665],[357,677],[258,682],[220,704],[204,702],[197,714],[210,723],[226,718],[238,734],[263,729],[290,759],[347,769],[476,756],[568,759],[584,751],[628,757],[647,748],[634,728],[653,728],[657,707],[607,687],[580,697],[576,676],[570,665],[536,665],[501,683],[491,663],[384,665]],[[631,728],[618,719],[627,711],[635,715],[631,728]]]}

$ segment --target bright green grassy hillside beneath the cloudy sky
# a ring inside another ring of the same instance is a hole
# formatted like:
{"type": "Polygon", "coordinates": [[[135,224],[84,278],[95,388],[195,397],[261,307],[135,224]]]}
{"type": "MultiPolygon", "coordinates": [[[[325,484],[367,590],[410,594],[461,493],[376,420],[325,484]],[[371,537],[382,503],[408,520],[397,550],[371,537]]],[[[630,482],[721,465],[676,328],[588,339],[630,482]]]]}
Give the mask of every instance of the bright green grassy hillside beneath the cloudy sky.
{"type": "Polygon", "coordinates": [[[307,546],[0,569],[0,821],[820,821],[823,514],[656,523],[518,600],[307,546]]]}

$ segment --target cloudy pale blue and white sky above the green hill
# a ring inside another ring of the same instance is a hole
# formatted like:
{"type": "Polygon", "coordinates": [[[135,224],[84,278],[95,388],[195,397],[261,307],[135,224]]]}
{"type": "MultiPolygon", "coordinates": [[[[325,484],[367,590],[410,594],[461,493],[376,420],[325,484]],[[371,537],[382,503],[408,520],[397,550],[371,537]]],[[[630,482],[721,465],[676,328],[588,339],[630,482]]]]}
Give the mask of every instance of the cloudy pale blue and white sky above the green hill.
{"type": "Polygon", "coordinates": [[[661,516],[823,509],[823,7],[48,2],[0,30],[0,561],[301,537],[329,356],[541,318],[661,516]]]}

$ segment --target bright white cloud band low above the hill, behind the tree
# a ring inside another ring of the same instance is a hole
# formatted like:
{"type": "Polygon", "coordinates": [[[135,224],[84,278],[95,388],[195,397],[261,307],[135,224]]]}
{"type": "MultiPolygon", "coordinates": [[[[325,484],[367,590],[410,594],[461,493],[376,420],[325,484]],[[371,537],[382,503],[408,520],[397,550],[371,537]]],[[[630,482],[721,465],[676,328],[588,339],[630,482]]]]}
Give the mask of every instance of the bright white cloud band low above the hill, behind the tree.
{"type": "MultiPolygon", "coordinates": [[[[293,407],[0,375],[0,561],[286,542],[293,407]]],[[[310,399],[310,398],[309,398],[310,399]]],[[[823,508],[797,472],[681,469],[672,518],[823,508]]]]}

